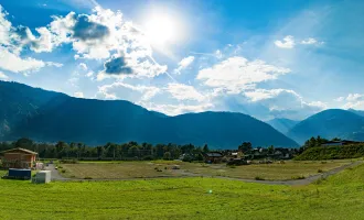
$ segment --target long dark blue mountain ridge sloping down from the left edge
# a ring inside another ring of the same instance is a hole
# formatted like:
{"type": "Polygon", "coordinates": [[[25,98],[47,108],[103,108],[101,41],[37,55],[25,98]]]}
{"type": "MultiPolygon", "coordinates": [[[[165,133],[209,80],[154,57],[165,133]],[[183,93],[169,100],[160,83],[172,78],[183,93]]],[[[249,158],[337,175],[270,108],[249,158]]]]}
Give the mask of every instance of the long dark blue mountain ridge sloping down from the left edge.
{"type": "Polygon", "coordinates": [[[207,143],[235,148],[298,144],[270,125],[242,113],[202,112],[167,117],[129,101],[78,99],[17,82],[0,81],[1,140],[26,136],[36,141],[207,143]]]}

